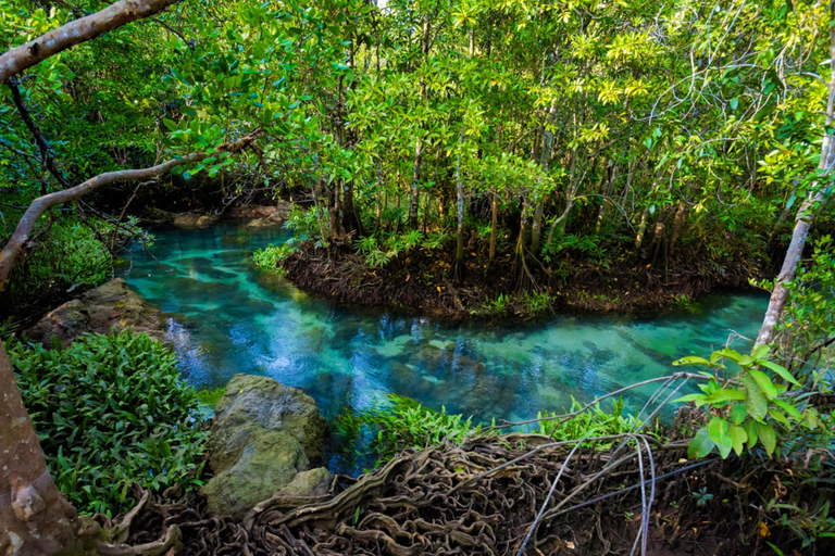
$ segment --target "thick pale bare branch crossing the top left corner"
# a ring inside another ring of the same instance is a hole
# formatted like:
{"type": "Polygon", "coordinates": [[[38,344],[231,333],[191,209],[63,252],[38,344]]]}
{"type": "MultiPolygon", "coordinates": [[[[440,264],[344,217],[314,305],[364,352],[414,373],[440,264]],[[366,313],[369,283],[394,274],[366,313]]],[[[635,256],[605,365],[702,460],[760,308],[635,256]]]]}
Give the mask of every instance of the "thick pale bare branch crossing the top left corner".
{"type": "Polygon", "coordinates": [[[121,0],[74,20],[0,55],[0,83],[68,48],[137,20],[154,15],[179,0],[121,0]]]}

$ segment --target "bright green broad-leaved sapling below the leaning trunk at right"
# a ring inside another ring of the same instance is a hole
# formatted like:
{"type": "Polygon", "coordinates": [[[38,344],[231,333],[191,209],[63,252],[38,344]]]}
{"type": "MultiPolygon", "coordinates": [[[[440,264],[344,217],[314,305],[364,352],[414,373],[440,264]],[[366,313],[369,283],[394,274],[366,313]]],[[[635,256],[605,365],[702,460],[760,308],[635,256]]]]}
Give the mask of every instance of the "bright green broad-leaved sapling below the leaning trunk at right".
{"type": "Polygon", "coordinates": [[[708,381],[700,384],[700,394],[688,394],[678,402],[693,402],[696,407],[708,406],[713,415],[707,427],[700,428],[688,448],[689,457],[703,457],[718,448],[722,457],[733,450],[737,455],[761,444],[767,454],[777,448],[778,433],[789,435],[798,427],[819,428],[814,407],[803,407],[797,396],[786,395],[790,387],[800,382],[785,367],[768,361],[768,345],[757,348],[751,355],[723,349],[703,357],[682,357],[673,365],[700,365],[714,372],[701,372],[708,381]],[[725,361],[739,367],[738,372],[720,376],[726,370],[725,361]],[[765,370],[773,372],[769,376],[765,370]],[[774,383],[774,379],[777,383],[774,383]]]}

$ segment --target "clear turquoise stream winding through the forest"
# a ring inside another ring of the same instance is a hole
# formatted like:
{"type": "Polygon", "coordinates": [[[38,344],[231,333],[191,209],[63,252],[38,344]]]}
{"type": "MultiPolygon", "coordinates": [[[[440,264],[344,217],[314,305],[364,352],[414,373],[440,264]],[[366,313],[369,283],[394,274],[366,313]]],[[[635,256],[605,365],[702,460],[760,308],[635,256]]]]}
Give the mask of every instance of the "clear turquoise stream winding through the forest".
{"type": "MultiPolygon", "coordinates": [[[[709,354],[732,332],[751,338],[768,304],[764,295],[719,294],[697,314],[445,324],[334,307],[257,269],[252,252],[289,239],[282,229],[221,224],[154,236],[150,253],[128,248],[123,276],[172,314],[169,333],[186,379],[213,389],[237,372],[266,375],[303,389],[329,419],[389,392],[475,420],[536,417],[570,406],[572,396],[589,401],[669,374],[672,361],[709,354]]],[[[627,407],[653,391],[632,391],[627,407]]]]}

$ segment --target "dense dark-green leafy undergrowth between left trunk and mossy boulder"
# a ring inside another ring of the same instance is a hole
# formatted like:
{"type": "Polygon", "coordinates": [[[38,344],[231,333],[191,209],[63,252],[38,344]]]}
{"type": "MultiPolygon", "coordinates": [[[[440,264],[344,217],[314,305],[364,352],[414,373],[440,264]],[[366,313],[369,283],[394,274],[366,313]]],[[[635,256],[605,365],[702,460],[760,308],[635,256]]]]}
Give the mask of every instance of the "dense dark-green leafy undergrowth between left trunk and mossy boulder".
{"type": "Polygon", "coordinates": [[[132,483],[200,484],[205,433],[170,349],[129,330],[5,345],[55,483],[82,511],[124,510],[132,483]]]}

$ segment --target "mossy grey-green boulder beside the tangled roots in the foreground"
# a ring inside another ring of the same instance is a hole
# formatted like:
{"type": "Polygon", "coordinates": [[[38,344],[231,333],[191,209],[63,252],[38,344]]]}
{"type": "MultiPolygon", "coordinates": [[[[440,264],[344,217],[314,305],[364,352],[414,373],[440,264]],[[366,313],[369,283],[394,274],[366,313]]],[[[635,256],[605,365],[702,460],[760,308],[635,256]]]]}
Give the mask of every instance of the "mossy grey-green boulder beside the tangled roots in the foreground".
{"type": "Polygon", "coordinates": [[[269,377],[236,375],[215,407],[209,435],[214,477],[201,489],[209,511],[242,518],[276,494],[315,496],[331,473],[322,462],[327,422],[316,403],[269,377]]]}

